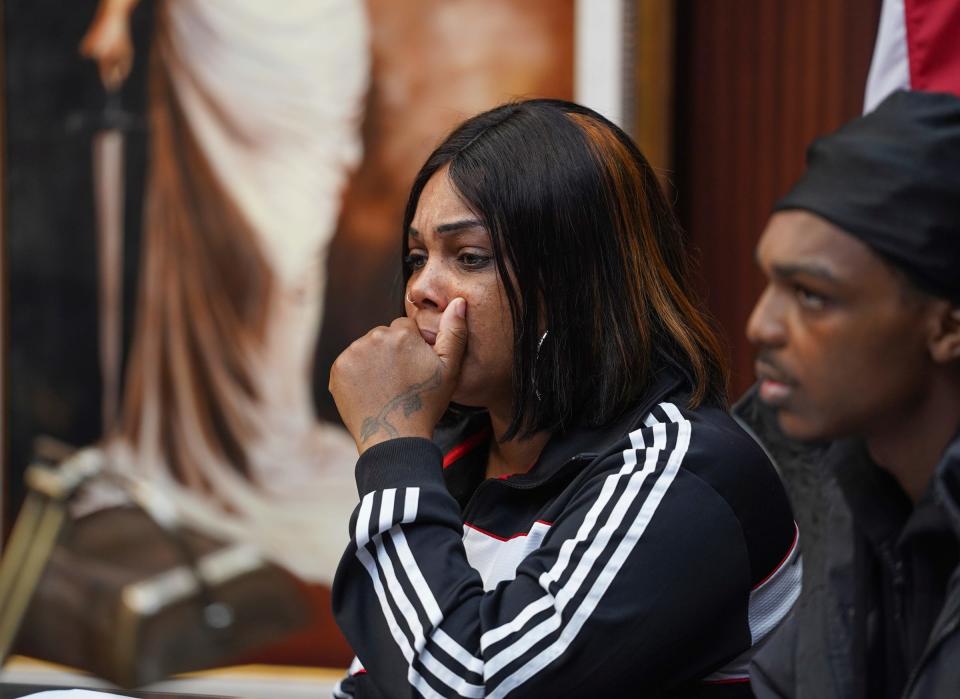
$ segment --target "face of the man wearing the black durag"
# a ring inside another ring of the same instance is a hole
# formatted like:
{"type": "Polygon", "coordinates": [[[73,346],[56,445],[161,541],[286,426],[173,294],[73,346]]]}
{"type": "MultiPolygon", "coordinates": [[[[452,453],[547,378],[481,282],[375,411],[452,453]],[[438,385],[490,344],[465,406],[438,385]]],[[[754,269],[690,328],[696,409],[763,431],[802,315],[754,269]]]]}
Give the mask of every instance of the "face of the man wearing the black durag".
{"type": "Polygon", "coordinates": [[[876,253],[805,211],[757,246],[767,288],[747,323],[760,397],[795,439],[897,429],[926,390],[924,301],[876,253]]]}

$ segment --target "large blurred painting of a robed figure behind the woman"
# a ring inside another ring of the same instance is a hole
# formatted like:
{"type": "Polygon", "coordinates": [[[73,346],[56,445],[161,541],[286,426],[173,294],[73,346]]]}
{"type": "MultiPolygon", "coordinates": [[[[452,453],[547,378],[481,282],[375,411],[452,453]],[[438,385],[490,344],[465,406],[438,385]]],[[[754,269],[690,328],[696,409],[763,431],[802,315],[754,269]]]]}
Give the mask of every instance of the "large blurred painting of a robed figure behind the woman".
{"type": "Polygon", "coordinates": [[[310,630],[255,659],[345,665],[329,367],[401,311],[444,134],[573,98],[573,0],[6,0],[2,40],[5,526],[32,459],[92,446],[310,591],[310,630]]]}

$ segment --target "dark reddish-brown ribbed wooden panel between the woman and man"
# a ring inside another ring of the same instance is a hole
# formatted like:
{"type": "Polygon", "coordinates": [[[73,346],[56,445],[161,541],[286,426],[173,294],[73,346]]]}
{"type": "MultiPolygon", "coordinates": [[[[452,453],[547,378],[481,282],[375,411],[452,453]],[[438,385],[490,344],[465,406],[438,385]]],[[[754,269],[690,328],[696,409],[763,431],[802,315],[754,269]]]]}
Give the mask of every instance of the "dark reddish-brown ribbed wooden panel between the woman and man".
{"type": "Polygon", "coordinates": [[[734,396],[753,378],[754,246],[809,142],[860,113],[879,13],[880,0],[677,2],[677,202],[734,396]]]}

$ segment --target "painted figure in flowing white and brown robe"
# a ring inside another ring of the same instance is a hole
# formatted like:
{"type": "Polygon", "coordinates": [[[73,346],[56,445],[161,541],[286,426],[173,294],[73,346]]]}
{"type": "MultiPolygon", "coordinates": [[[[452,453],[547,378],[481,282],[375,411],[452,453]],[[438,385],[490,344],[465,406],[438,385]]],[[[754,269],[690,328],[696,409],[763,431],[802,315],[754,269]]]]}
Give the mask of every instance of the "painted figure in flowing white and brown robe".
{"type": "MultiPolygon", "coordinates": [[[[137,0],[101,0],[81,53],[129,73],[137,0]]],[[[329,584],[356,451],[317,420],[326,251],[361,155],[361,0],[165,0],[149,66],[136,326],[113,468],[210,535],[329,584]],[[309,533],[309,536],[304,536],[309,533]]]]}

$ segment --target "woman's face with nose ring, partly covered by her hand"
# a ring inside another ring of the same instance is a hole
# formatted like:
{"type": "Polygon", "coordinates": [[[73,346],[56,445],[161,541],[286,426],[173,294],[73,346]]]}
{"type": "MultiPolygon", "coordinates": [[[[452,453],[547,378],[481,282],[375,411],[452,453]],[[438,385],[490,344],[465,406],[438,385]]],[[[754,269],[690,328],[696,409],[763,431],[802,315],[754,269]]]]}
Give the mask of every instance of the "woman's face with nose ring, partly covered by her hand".
{"type": "Polygon", "coordinates": [[[424,340],[436,341],[440,314],[458,296],[467,302],[467,351],[453,400],[509,419],[513,326],[490,233],[461,200],[447,168],[420,195],[407,231],[410,272],[404,307],[424,340]]]}

